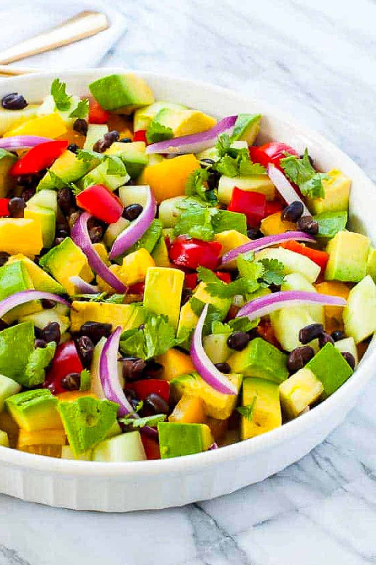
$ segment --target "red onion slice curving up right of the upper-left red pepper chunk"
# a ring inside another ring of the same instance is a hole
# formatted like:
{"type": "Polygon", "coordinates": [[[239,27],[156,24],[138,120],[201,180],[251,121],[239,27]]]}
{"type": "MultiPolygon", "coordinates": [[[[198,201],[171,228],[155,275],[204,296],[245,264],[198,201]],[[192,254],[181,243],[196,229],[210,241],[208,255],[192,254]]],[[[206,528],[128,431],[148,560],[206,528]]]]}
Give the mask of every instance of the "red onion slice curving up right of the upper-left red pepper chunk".
{"type": "Polygon", "coordinates": [[[122,255],[122,253],[135,244],[154,220],[157,211],[156,199],[154,198],[150,186],[147,186],[147,188],[148,194],[143,211],[138,218],[132,221],[131,224],[117,236],[109,253],[110,259],[119,257],[119,255],[122,255]]]}

